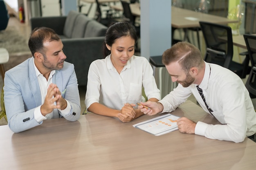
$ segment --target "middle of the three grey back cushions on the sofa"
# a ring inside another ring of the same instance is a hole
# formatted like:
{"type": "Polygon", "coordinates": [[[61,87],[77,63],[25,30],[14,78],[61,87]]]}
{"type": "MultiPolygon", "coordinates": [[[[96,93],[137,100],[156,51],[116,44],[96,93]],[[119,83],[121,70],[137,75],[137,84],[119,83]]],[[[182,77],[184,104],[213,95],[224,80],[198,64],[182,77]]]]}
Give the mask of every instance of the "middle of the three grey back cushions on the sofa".
{"type": "Polygon", "coordinates": [[[72,30],[71,38],[83,38],[87,23],[92,20],[83,14],[76,17],[74,28],[72,30]]]}

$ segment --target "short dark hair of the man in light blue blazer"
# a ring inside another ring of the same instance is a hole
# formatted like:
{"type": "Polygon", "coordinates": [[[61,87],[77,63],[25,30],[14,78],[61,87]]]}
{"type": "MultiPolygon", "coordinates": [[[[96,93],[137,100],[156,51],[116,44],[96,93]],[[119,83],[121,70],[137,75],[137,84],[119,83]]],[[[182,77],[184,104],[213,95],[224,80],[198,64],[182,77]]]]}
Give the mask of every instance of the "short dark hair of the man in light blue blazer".
{"type": "Polygon", "coordinates": [[[34,53],[39,52],[44,55],[44,46],[43,43],[45,40],[51,41],[59,41],[61,38],[58,36],[58,34],[55,33],[53,29],[47,28],[47,27],[36,27],[30,35],[29,38],[29,49],[31,51],[31,54],[34,56],[34,53]]]}

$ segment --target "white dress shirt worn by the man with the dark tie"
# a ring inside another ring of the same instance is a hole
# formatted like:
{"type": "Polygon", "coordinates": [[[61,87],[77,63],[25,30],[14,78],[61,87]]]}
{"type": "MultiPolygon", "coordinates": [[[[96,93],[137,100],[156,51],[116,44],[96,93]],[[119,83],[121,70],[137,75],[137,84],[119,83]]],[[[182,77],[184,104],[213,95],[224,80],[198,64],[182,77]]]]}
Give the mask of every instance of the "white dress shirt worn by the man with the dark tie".
{"type": "MultiPolygon", "coordinates": [[[[196,86],[197,84],[191,84],[184,88],[178,84],[177,88],[159,101],[164,106],[163,113],[175,110],[191,94],[209,113],[196,86]]],[[[222,125],[210,125],[198,121],[195,134],[210,139],[241,142],[246,136],[256,132],[254,106],[249,92],[238,75],[222,66],[205,62],[204,77],[199,87],[202,88],[207,105],[213,110],[213,116],[222,125]]]]}

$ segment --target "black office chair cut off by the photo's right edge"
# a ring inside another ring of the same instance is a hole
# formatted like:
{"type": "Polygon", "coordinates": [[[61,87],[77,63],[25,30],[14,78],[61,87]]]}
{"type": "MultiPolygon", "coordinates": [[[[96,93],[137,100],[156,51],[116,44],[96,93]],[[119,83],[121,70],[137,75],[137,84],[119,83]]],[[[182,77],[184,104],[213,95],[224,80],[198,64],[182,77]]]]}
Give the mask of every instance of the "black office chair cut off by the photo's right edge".
{"type": "Polygon", "coordinates": [[[252,69],[245,83],[251,98],[256,98],[256,35],[244,34],[245,44],[251,61],[252,69]]]}

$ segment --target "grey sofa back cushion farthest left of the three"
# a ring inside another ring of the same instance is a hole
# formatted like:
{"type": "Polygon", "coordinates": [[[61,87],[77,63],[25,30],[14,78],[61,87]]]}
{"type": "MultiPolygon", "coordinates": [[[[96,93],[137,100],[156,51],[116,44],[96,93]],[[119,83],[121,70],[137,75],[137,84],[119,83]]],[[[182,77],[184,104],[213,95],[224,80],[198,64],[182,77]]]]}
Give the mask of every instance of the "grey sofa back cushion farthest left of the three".
{"type": "Polygon", "coordinates": [[[76,17],[79,15],[78,12],[76,11],[70,11],[67,15],[67,19],[65,21],[64,29],[63,29],[63,34],[67,38],[71,38],[72,36],[72,31],[74,27],[74,22],[76,20],[76,17]]]}

